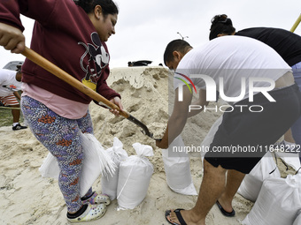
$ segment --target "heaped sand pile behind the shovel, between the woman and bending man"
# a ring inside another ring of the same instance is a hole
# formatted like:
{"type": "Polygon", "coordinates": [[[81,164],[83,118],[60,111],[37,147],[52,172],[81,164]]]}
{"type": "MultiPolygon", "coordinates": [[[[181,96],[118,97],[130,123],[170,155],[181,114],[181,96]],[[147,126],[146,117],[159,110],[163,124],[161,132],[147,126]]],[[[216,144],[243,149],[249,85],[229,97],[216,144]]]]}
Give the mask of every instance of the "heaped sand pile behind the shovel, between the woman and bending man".
{"type": "MultiPolygon", "coordinates": [[[[125,110],[158,138],[163,135],[168,120],[168,74],[169,71],[162,67],[117,68],[112,69],[107,80],[108,85],[121,94],[125,110]]],[[[96,139],[104,146],[112,146],[113,138],[117,137],[129,155],[135,154],[132,147],[135,142],[157,148],[155,141],[143,134],[142,128],[126,118],[115,117],[96,104],[91,104],[89,110],[96,139]]],[[[161,160],[160,151],[154,153],[153,161],[161,160]]],[[[162,171],[162,163],[159,164],[158,170],[162,171]]]]}

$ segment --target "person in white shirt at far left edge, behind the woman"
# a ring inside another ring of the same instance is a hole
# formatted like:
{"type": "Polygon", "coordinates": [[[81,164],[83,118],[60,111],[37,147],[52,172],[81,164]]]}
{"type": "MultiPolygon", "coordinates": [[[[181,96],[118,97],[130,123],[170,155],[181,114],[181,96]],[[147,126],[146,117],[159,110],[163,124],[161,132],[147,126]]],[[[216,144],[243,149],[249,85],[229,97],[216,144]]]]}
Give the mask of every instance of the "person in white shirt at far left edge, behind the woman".
{"type": "MultiPolygon", "coordinates": [[[[20,70],[0,70],[0,101],[4,106],[19,108],[19,91],[21,90],[22,73],[20,70]]],[[[19,124],[20,109],[12,109],[12,131],[26,129],[19,124]]]]}

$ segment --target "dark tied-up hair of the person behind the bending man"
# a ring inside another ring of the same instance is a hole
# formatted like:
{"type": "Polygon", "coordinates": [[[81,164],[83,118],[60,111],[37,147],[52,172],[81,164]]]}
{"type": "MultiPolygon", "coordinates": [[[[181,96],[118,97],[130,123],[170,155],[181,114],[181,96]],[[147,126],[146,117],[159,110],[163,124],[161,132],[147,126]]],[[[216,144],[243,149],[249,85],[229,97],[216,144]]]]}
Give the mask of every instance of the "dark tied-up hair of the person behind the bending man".
{"type": "Polygon", "coordinates": [[[211,20],[209,40],[218,36],[218,34],[231,35],[235,33],[235,27],[232,25],[232,20],[226,14],[216,15],[211,20]]]}

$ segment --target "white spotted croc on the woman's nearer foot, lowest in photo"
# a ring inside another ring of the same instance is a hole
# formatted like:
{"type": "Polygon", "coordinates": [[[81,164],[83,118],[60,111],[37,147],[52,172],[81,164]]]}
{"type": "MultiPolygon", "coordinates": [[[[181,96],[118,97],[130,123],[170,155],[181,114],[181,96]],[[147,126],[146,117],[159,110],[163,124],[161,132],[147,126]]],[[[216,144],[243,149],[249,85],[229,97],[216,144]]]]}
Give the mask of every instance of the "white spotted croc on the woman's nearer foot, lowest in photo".
{"type": "Polygon", "coordinates": [[[104,204],[91,205],[89,204],[86,211],[80,216],[70,219],[67,217],[67,220],[71,223],[81,222],[81,221],[95,221],[104,216],[106,211],[106,206],[104,204]]]}

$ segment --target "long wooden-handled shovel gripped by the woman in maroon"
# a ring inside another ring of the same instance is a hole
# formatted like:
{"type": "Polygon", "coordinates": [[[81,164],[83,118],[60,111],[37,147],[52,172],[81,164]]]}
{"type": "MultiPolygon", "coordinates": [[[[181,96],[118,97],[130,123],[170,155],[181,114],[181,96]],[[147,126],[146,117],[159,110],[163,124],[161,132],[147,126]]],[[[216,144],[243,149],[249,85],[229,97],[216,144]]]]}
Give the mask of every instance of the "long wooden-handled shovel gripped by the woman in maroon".
{"type": "MultiPolygon", "coordinates": [[[[113,104],[111,101],[108,101],[105,99],[102,95],[96,93],[88,86],[85,86],[81,83],[78,79],[74,79],[70,74],[68,74],[66,71],[63,71],[62,69],[58,68],[55,64],[52,64],[50,61],[48,61],[46,58],[40,56],[37,54],[34,50],[28,49],[27,47],[22,52],[23,56],[26,56],[30,61],[34,62],[35,64],[41,66],[46,71],[50,71],[53,75],[58,77],[59,79],[64,80],[69,85],[75,87],[78,89],[81,93],[88,95],[93,100],[97,101],[100,105],[104,105],[105,107],[109,109],[117,109],[120,111],[120,115],[126,117],[129,121],[133,122],[134,124],[140,126],[143,129],[143,133],[147,136],[149,136],[151,139],[153,138],[153,134],[145,124],[143,124],[141,121],[137,120],[134,116],[131,116],[126,111],[120,110],[120,108],[113,104]]],[[[159,140],[159,139],[155,139],[159,140]]]]}

